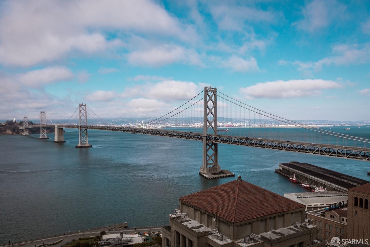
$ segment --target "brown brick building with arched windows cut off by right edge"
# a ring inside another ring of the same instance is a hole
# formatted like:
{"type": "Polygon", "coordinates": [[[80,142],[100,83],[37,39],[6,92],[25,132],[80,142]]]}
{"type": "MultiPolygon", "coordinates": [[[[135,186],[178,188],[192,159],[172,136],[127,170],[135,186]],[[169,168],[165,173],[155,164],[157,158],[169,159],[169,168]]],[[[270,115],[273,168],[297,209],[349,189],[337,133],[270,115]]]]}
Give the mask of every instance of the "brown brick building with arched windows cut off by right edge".
{"type": "Polygon", "coordinates": [[[370,239],[369,201],[370,183],[348,190],[347,238],[370,239]]]}

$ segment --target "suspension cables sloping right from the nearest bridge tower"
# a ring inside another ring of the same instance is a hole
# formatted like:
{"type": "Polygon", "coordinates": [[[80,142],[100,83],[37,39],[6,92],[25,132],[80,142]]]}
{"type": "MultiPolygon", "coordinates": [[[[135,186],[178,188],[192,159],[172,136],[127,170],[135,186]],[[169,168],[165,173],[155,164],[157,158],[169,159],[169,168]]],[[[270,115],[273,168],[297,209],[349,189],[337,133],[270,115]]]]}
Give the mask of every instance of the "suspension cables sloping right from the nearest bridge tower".
{"type": "MultiPolygon", "coordinates": [[[[248,104],[245,104],[245,103],[243,103],[243,102],[241,102],[239,100],[236,100],[236,99],[234,99],[234,98],[232,98],[232,97],[230,97],[230,96],[228,96],[228,95],[226,95],[224,93],[221,93],[220,91],[218,91],[218,93],[222,94],[223,96],[226,96],[227,98],[230,98],[232,100],[235,100],[239,104],[236,103],[236,102],[233,102],[233,101],[231,101],[229,99],[226,99],[225,97],[221,96],[220,94],[218,94],[218,95],[216,94],[218,97],[221,97],[222,99],[224,99],[224,100],[226,100],[226,101],[228,101],[228,102],[230,102],[232,104],[235,104],[235,105],[240,106],[242,108],[248,109],[249,111],[252,111],[254,113],[257,113],[260,116],[262,115],[262,116],[265,116],[265,117],[269,117],[271,119],[280,121],[282,123],[286,123],[286,124],[289,124],[289,125],[293,125],[293,126],[305,128],[307,130],[315,131],[317,133],[322,133],[322,134],[326,134],[326,135],[330,135],[330,136],[336,136],[336,137],[340,137],[340,138],[346,138],[346,139],[349,139],[349,140],[360,141],[360,142],[364,142],[364,143],[370,143],[370,140],[369,139],[366,139],[366,138],[349,136],[349,135],[337,133],[337,132],[334,132],[334,131],[327,131],[327,130],[323,130],[323,129],[320,129],[320,128],[317,128],[317,127],[308,126],[306,124],[298,123],[296,121],[292,121],[292,120],[289,120],[289,119],[286,119],[286,118],[283,118],[283,117],[279,117],[279,116],[276,116],[275,114],[271,114],[271,113],[268,113],[266,111],[260,110],[260,109],[258,109],[256,107],[253,107],[253,106],[250,106],[248,104]]],[[[232,109],[232,107],[231,107],[231,109],[232,109]]]]}

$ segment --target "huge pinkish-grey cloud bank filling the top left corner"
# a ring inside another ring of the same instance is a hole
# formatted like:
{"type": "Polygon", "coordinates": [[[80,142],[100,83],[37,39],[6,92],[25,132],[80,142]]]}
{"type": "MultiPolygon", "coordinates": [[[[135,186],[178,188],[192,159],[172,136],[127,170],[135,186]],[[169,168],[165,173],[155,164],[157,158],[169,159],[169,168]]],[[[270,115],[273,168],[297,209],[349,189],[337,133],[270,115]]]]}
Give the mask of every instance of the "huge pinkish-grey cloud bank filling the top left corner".
{"type": "Polygon", "coordinates": [[[193,42],[192,25],[150,0],[2,1],[0,63],[32,66],[69,54],[104,54],[124,45],[104,30],[159,34],[193,42]],[[137,14],[140,13],[140,14],[137,14]]]}

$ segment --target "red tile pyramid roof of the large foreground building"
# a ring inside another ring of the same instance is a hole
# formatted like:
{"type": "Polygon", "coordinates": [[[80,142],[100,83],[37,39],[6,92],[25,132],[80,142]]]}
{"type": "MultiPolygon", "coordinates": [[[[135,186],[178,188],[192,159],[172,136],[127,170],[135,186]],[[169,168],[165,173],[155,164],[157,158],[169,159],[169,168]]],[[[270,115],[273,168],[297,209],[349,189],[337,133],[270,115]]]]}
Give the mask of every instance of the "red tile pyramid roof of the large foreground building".
{"type": "Polygon", "coordinates": [[[303,204],[243,180],[233,180],[229,183],[180,197],[179,200],[232,223],[306,208],[303,204]]]}

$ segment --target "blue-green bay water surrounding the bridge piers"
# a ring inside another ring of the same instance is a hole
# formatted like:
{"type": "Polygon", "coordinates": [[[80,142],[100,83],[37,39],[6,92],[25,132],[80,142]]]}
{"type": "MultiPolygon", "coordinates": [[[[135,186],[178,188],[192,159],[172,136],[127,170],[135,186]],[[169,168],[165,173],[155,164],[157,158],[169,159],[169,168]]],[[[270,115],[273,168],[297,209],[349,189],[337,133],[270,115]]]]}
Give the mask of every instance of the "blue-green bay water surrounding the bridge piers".
{"type": "MultiPolygon", "coordinates": [[[[66,143],[53,143],[54,134],[0,136],[0,244],[124,221],[167,224],[179,197],[235,179],[199,176],[200,141],[89,130],[93,147],[75,148],[78,130],[66,131],[66,143]]],[[[238,128],[228,134],[237,131],[248,134],[238,128]]],[[[270,137],[267,128],[254,131],[270,137]]],[[[346,133],[369,138],[369,132],[346,133]]],[[[275,173],[279,163],[307,162],[366,180],[370,171],[364,161],[226,144],[219,144],[219,160],[223,169],[280,195],[306,190],[275,173]]]]}

